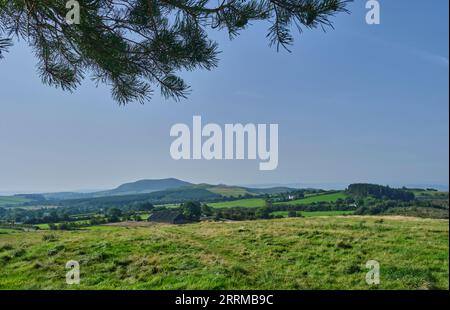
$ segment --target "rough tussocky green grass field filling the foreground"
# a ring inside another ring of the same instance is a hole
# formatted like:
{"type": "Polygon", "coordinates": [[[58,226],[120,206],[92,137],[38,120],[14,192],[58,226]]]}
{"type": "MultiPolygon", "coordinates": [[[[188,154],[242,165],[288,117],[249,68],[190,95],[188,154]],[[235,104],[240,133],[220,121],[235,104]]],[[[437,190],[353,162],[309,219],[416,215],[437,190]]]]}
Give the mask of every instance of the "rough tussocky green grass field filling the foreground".
{"type": "MultiPolygon", "coordinates": [[[[144,223],[142,223],[144,225],[144,223]]],[[[449,223],[401,217],[0,231],[0,289],[448,289],[449,223]],[[80,263],[81,283],[65,283],[80,263]],[[365,282],[380,263],[381,283],[365,282]]]]}

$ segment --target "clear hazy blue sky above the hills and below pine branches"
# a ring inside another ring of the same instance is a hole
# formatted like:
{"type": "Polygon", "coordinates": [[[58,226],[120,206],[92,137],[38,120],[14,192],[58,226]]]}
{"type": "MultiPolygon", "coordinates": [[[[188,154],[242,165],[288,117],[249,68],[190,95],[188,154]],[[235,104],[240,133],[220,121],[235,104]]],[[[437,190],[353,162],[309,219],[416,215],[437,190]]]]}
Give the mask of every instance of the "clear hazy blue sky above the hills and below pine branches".
{"type": "Polygon", "coordinates": [[[0,61],[0,192],[109,188],[142,178],[193,182],[444,184],[449,179],[448,1],[365,1],[335,30],[296,35],[276,52],[255,23],[229,41],[213,71],[183,73],[192,93],[118,106],[86,80],[73,94],[43,85],[17,43],[0,61]],[[278,123],[279,165],[174,161],[170,127],[278,123]]]}

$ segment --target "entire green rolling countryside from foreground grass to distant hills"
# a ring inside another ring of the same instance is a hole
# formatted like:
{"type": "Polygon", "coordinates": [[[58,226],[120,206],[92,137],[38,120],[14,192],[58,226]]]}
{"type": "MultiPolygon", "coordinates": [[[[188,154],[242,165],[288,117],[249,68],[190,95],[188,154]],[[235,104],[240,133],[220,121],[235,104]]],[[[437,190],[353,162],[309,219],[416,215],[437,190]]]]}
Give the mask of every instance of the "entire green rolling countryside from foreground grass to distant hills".
{"type": "Polygon", "coordinates": [[[167,179],[69,193],[0,198],[0,289],[449,288],[447,192],[167,179]]]}

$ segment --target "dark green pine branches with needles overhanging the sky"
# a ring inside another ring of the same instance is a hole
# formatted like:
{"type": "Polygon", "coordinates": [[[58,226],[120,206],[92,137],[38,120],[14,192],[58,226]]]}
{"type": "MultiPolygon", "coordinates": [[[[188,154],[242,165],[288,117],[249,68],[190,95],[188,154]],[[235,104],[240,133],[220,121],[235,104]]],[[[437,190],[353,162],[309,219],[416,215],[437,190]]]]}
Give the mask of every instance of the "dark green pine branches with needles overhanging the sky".
{"type": "Polygon", "coordinates": [[[0,0],[0,58],[23,39],[46,84],[74,91],[90,76],[111,87],[119,104],[162,95],[183,98],[184,70],[218,64],[213,29],[238,35],[269,23],[271,45],[288,48],[292,29],[332,27],[350,0],[79,0],[80,23],[68,24],[66,0],[0,0]]]}

